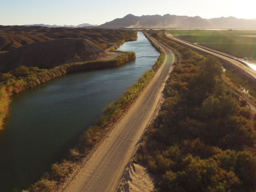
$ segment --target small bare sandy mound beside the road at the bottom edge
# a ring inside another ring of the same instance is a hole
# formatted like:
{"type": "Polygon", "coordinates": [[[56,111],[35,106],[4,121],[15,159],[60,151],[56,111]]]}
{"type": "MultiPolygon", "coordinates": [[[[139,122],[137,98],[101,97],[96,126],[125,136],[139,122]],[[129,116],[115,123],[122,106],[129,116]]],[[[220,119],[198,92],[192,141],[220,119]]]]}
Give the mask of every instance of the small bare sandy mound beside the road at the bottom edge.
{"type": "Polygon", "coordinates": [[[116,192],[152,192],[155,180],[155,175],[142,165],[129,163],[116,192]]]}

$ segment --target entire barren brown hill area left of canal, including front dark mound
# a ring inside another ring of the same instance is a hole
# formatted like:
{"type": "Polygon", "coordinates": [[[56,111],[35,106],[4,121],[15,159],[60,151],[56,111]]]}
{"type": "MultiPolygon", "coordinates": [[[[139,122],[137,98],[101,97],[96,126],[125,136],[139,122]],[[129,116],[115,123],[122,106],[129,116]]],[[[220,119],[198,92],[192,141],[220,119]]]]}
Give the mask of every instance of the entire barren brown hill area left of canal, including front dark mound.
{"type": "Polygon", "coordinates": [[[120,31],[0,26],[0,72],[7,72],[20,65],[48,69],[104,57],[106,48],[124,39],[124,33],[120,31]]]}

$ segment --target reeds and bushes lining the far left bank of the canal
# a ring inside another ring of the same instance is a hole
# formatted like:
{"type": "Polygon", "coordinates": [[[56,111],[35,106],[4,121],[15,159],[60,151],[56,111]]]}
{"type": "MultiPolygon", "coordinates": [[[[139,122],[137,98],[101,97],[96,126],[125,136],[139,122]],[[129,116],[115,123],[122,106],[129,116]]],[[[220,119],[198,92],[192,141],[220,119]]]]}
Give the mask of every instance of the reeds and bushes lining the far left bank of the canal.
{"type": "Polygon", "coordinates": [[[37,67],[25,67],[22,65],[8,73],[0,74],[0,130],[3,128],[5,117],[9,114],[8,109],[13,94],[58,78],[66,73],[117,66],[136,58],[136,54],[133,51],[123,53],[126,54],[120,55],[116,59],[71,63],[54,69],[38,69],[37,67]]]}

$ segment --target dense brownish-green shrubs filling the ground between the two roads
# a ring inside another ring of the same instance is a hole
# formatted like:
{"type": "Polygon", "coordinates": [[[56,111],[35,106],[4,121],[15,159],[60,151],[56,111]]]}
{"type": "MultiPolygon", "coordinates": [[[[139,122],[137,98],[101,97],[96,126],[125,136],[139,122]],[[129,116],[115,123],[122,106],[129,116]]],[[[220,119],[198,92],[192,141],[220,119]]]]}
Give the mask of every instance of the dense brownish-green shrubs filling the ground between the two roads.
{"type": "Polygon", "coordinates": [[[255,116],[219,60],[174,41],[176,66],[157,120],[134,161],[160,177],[161,192],[254,192],[255,116]]]}

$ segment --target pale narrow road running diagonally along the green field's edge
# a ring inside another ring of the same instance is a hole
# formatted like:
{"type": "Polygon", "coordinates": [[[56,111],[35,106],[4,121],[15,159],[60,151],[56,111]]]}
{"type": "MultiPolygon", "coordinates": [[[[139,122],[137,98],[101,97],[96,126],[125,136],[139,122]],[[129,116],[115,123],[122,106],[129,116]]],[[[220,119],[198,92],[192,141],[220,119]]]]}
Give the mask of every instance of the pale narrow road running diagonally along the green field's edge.
{"type": "MultiPolygon", "coordinates": [[[[167,33],[166,33],[166,34],[167,34],[167,33]]],[[[173,35],[171,35],[171,34],[167,34],[166,37],[168,37],[169,39],[173,39],[174,41],[178,41],[178,42],[180,42],[180,43],[182,43],[182,44],[184,44],[184,45],[186,45],[186,46],[190,46],[190,47],[195,48],[195,49],[197,49],[197,50],[200,50],[200,51],[203,51],[203,52],[206,52],[206,53],[210,53],[211,55],[215,55],[215,56],[217,56],[217,57],[219,57],[219,58],[221,58],[221,59],[227,60],[227,61],[229,61],[229,63],[233,64],[234,66],[236,66],[236,67],[242,69],[243,73],[247,73],[247,75],[248,75],[250,78],[256,79],[256,71],[255,71],[255,70],[251,69],[251,67],[246,66],[245,64],[242,64],[242,63],[239,62],[238,60],[235,60],[235,59],[232,59],[232,58],[229,58],[229,57],[225,56],[225,55],[227,55],[227,54],[225,54],[225,53],[222,53],[223,55],[219,55],[218,53],[215,53],[215,52],[211,51],[210,49],[202,48],[202,46],[199,47],[199,46],[197,46],[197,45],[193,45],[193,44],[191,44],[191,43],[188,43],[188,42],[182,41],[182,40],[180,40],[180,39],[177,39],[177,38],[175,38],[175,37],[174,37],[173,35]]],[[[220,51],[218,51],[218,52],[220,52],[220,51]]],[[[221,53],[221,52],[220,52],[220,53],[221,53]]],[[[232,56],[230,56],[230,57],[232,57],[232,56]]],[[[251,65],[251,66],[253,67],[253,65],[251,65]]],[[[256,68],[255,68],[255,69],[256,69],[256,68]]]]}

